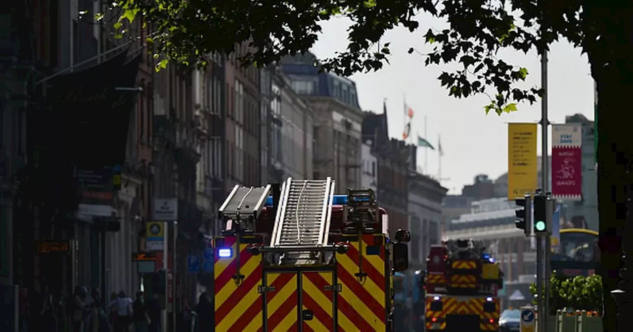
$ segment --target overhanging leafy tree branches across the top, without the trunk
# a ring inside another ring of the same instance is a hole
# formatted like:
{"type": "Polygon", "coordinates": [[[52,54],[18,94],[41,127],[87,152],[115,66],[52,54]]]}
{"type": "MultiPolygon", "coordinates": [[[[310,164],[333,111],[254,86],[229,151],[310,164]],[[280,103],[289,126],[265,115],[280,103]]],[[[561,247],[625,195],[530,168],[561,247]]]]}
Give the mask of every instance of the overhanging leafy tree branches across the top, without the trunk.
{"type": "MultiPolygon", "coordinates": [[[[541,90],[518,86],[527,69],[498,58],[499,50],[540,53],[560,37],[583,51],[608,43],[597,39],[598,25],[587,20],[583,4],[573,0],[123,0],[108,1],[108,9],[118,13],[114,25],[120,35],[127,32],[123,23],[139,15],[152,24],[154,34],[147,41],[161,58],[158,68],[169,61],[204,66],[208,54],[230,54],[238,42],[251,46],[239,56],[242,65],[268,65],[308,51],[318,39],[321,22],[346,16],[353,22],[347,49],[318,64],[344,76],[382,68],[389,61],[389,41],[384,40],[380,49],[374,46],[385,32],[398,26],[411,32],[425,29],[415,15],[429,13],[445,19],[450,28],[426,31],[425,42],[435,47],[425,64],[461,63],[459,70],[438,77],[448,94],[458,98],[486,94],[491,99],[486,113],[501,114],[516,111],[517,102],[536,102],[541,90]]],[[[97,18],[103,17],[97,13],[97,18]]]]}

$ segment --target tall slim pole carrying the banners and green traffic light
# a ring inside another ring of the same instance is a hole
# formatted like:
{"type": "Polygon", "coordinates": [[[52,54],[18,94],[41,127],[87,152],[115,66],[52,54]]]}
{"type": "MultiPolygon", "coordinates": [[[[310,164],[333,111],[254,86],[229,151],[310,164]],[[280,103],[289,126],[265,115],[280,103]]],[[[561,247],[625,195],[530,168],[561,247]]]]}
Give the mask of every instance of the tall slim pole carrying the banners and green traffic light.
{"type": "MultiPolygon", "coordinates": [[[[549,118],[548,118],[548,49],[547,46],[544,45],[542,47],[541,52],[541,87],[543,89],[543,96],[541,101],[541,130],[542,130],[542,145],[541,145],[541,188],[542,194],[547,195],[549,192],[549,163],[548,163],[548,127],[549,127],[549,118]]],[[[543,295],[539,295],[539,299],[541,299],[542,306],[539,306],[539,332],[547,332],[547,321],[549,318],[549,255],[551,254],[551,240],[549,236],[549,230],[551,230],[552,223],[552,211],[547,212],[548,218],[546,219],[546,229],[548,233],[545,233],[544,236],[536,237],[536,248],[537,248],[537,266],[541,266],[541,273],[538,274],[537,280],[541,281],[541,287],[537,285],[540,293],[543,295]],[[542,243],[544,242],[544,243],[542,243]],[[541,260],[539,261],[539,250],[541,250],[541,260]],[[544,270],[544,271],[542,271],[544,270]]],[[[538,270],[538,269],[537,269],[538,270]]]]}

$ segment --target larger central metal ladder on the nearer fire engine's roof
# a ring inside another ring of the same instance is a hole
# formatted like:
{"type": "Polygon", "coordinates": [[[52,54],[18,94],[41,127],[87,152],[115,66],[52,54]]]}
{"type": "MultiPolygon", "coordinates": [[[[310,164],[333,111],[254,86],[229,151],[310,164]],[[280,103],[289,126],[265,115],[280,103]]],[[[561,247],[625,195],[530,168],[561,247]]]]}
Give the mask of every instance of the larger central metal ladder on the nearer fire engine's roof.
{"type": "Polygon", "coordinates": [[[273,226],[271,247],[279,250],[280,264],[314,264],[324,259],[334,199],[334,180],[294,180],[282,183],[280,206],[273,226]]]}

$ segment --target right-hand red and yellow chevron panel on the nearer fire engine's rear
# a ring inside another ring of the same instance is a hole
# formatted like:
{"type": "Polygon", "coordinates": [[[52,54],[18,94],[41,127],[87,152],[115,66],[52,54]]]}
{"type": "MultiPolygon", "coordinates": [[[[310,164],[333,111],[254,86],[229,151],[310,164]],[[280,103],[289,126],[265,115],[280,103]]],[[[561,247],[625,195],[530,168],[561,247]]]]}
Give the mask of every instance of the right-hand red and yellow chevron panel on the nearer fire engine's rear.
{"type": "Polygon", "coordinates": [[[385,249],[384,235],[366,234],[359,242],[350,242],[346,254],[336,254],[338,293],[338,329],[344,331],[385,331],[385,249]],[[365,253],[374,238],[382,238],[378,255],[365,253]],[[361,248],[362,247],[362,248],[361,248]],[[361,267],[367,277],[359,281],[354,274],[361,267]]]}

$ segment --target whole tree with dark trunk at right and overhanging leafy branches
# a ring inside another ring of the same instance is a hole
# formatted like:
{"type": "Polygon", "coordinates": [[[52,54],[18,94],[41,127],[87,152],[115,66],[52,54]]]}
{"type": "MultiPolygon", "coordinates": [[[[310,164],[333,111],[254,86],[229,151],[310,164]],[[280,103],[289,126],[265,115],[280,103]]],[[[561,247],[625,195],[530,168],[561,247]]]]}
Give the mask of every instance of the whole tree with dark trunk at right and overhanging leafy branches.
{"type": "MultiPolygon", "coordinates": [[[[626,175],[628,166],[624,165],[628,162],[622,161],[618,154],[624,151],[627,156],[633,154],[633,143],[624,136],[629,132],[625,121],[618,121],[615,116],[615,109],[622,108],[619,99],[633,89],[630,75],[633,61],[629,61],[633,54],[630,1],[104,1],[106,12],[115,13],[113,28],[119,36],[128,32],[127,21],[141,17],[148,24],[152,34],[147,42],[154,44],[158,69],[170,61],[204,66],[208,54],[234,53],[236,44],[242,42],[251,46],[250,51],[239,54],[242,65],[265,66],[284,56],[308,51],[318,39],[320,23],[346,16],[352,22],[348,47],[316,65],[324,71],[347,76],[379,70],[389,61],[389,40],[381,40],[387,30],[394,27],[406,27],[411,32],[421,30],[425,32],[423,42],[432,46],[432,51],[426,54],[426,65],[461,64],[459,69],[438,77],[448,94],[458,98],[486,94],[491,99],[485,106],[486,113],[498,114],[516,111],[518,102],[533,103],[542,95],[538,87],[526,88],[522,84],[529,74],[527,69],[504,61],[499,51],[536,49],[540,54],[552,42],[567,39],[587,53],[598,87],[599,123],[611,126],[608,131],[600,130],[599,190],[612,192],[611,186],[633,181],[626,175]],[[425,27],[426,22],[419,22],[416,16],[422,12],[446,20],[449,28],[435,31],[425,27]],[[382,47],[377,49],[379,40],[382,47]]],[[[104,17],[103,13],[96,16],[97,20],[104,17]]],[[[411,46],[410,53],[415,51],[414,47],[411,46]]],[[[622,229],[625,216],[630,215],[621,212],[626,210],[618,203],[624,202],[623,198],[614,197],[599,197],[603,267],[610,266],[603,271],[603,277],[610,276],[603,278],[605,294],[615,288],[617,280],[611,277],[620,264],[617,230],[622,229]]],[[[610,297],[605,297],[605,306],[605,312],[613,312],[610,297]]],[[[610,321],[605,321],[605,329],[614,330],[613,316],[605,314],[605,317],[610,317],[610,321]]]]}

